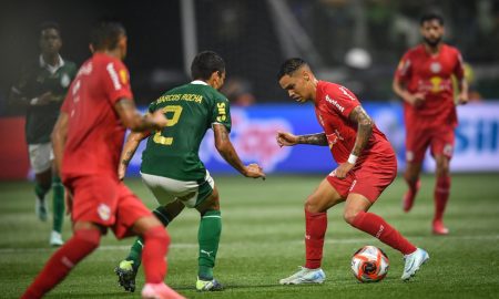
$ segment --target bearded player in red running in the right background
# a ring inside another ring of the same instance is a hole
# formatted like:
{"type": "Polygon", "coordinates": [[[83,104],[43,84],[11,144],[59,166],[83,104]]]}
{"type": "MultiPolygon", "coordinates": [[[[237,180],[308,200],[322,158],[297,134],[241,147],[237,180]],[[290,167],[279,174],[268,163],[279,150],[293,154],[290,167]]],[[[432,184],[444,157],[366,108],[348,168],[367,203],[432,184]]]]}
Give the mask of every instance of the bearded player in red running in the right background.
{"type": "Polygon", "coordinates": [[[404,54],[393,84],[394,92],[404,100],[407,131],[404,178],[409,189],[403,197],[403,208],[409,212],[413,207],[420,185],[421,163],[430,147],[437,163],[432,231],[447,235],[449,230],[442,218],[450,192],[449,162],[457,126],[452,76],[459,82],[459,104],[468,102],[468,84],[461,54],[441,41],[444,19],[435,13],[425,14],[420,19],[420,31],[424,43],[404,54]]]}

